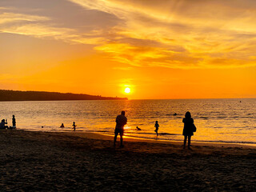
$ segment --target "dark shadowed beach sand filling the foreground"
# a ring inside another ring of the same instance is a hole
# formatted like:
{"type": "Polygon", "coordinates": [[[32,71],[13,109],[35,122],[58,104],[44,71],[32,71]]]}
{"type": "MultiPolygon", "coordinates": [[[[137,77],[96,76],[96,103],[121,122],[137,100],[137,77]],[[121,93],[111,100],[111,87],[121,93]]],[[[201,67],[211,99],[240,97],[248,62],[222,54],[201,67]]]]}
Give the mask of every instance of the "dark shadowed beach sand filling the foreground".
{"type": "Polygon", "coordinates": [[[193,138],[193,150],[133,138],[124,145],[91,133],[0,130],[0,191],[256,191],[255,147],[193,138]]]}

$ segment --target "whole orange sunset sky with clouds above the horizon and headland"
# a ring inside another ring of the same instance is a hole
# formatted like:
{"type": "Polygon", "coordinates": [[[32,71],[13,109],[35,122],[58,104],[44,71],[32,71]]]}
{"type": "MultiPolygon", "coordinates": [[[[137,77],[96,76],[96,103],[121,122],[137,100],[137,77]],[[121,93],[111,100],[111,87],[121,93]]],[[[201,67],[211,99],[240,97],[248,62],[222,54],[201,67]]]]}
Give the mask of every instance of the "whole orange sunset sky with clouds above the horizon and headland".
{"type": "Polygon", "coordinates": [[[256,1],[1,0],[0,67],[5,90],[256,98],[256,1]]]}

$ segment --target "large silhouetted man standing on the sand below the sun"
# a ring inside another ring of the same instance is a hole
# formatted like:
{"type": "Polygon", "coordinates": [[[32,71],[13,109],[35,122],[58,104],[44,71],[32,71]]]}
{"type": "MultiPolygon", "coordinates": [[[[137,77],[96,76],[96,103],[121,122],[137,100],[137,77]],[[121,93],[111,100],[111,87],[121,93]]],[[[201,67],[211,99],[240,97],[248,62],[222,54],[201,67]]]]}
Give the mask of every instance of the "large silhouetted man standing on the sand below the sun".
{"type": "Polygon", "coordinates": [[[118,117],[115,119],[115,122],[117,123],[114,130],[114,146],[115,142],[117,141],[118,134],[120,134],[120,147],[123,147],[122,145],[122,135],[123,135],[123,127],[127,123],[127,118],[125,116],[126,112],[122,110],[121,114],[118,115],[118,117]]]}

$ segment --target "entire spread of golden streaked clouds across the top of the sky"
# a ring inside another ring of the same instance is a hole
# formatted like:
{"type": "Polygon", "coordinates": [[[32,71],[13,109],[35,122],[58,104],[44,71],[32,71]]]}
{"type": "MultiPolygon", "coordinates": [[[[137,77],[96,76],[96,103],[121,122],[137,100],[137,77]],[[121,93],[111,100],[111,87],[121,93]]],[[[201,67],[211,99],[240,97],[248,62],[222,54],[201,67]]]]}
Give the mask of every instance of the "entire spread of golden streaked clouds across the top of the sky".
{"type": "MultiPolygon", "coordinates": [[[[65,19],[57,19],[54,14],[54,17],[14,14],[2,9],[6,12],[0,14],[0,31],[70,44],[91,44],[94,50],[130,66],[180,69],[256,66],[252,58],[256,50],[254,1],[68,2],[83,9],[78,12],[79,18],[74,17],[82,22],[74,21],[76,25],[71,25],[70,19],[65,23],[65,19]]],[[[76,6],[72,6],[73,11],[78,9],[76,6]]]]}

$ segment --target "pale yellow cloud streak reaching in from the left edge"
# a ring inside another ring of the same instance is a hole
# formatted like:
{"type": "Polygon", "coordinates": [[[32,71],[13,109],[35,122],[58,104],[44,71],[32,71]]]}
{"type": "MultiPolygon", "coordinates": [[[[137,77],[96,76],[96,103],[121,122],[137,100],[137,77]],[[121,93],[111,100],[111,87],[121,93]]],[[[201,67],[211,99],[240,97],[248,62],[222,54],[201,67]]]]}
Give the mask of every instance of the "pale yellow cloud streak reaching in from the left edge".
{"type": "Polygon", "coordinates": [[[98,44],[103,42],[103,38],[95,35],[79,34],[77,30],[58,27],[49,23],[50,18],[30,15],[2,13],[0,14],[0,32],[9,34],[22,34],[35,38],[53,38],[71,44],[98,44]]]}

